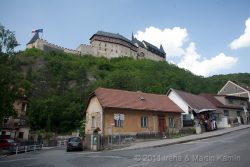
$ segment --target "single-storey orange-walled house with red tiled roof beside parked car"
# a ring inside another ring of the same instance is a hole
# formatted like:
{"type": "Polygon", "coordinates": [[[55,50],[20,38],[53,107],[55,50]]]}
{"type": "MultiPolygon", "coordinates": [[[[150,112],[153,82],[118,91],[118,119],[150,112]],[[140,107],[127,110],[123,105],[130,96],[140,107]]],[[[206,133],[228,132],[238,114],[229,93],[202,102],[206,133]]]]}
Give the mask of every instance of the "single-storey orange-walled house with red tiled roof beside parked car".
{"type": "Polygon", "coordinates": [[[85,142],[93,134],[102,137],[103,145],[110,135],[160,135],[179,132],[182,109],[166,95],[98,88],[89,98],[85,124],[85,142]]]}

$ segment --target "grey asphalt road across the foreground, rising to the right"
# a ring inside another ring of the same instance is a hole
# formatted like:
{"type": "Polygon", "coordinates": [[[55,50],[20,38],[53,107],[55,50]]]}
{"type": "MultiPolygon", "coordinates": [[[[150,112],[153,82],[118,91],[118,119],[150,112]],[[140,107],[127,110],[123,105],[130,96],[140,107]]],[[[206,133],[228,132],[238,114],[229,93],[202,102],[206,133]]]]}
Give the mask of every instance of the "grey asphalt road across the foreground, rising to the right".
{"type": "Polygon", "coordinates": [[[51,149],[0,159],[2,167],[246,167],[250,129],[188,143],[126,151],[65,152],[51,149]]]}

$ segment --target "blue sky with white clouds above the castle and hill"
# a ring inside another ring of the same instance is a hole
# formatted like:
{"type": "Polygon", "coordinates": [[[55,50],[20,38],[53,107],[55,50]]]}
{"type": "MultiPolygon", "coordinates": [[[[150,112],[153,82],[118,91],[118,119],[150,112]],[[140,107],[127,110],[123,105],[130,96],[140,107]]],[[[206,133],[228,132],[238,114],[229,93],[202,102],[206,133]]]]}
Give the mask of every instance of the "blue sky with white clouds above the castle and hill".
{"type": "Polygon", "coordinates": [[[24,50],[33,29],[66,48],[99,30],[148,41],[196,75],[250,72],[249,0],[1,0],[0,24],[24,50]]]}

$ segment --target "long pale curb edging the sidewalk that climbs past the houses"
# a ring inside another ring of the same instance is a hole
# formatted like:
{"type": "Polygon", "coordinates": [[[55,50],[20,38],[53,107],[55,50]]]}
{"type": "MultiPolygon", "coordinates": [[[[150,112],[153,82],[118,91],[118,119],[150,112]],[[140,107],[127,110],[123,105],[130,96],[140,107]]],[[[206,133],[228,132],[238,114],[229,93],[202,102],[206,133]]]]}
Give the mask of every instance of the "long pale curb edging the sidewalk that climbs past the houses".
{"type": "Polygon", "coordinates": [[[165,143],[165,144],[159,144],[159,145],[154,145],[154,146],[145,146],[145,147],[139,147],[139,148],[128,148],[128,149],[115,149],[112,151],[126,151],[126,150],[138,150],[138,149],[145,149],[145,148],[156,148],[156,147],[164,147],[164,146],[169,146],[169,145],[175,145],[175,144],[181,144],[181,143],[187,143],[190,141],[196,141],[196,140],[202,140],[202,139],[208,139],[208,138],[213,138],[213,137],[218,137],[218,136],[222,136],[225,134],[229,134],[235,131],[240,131],[240,130],[244,130],[244,129],[248,129],[249,127],[243,127],[241,129],[236,129],[236,130],[232,130],[229,132],[225,132],[225,133],[221,133],[221,134],[217,134],[217,135],[211,135],[211,136],[206,136],[206,137],[198,137],[195,139],[187,139],[187,140],[183,140],[183,141],[176,141],[176,142],[172,142],[172,143],[165,143]]]}

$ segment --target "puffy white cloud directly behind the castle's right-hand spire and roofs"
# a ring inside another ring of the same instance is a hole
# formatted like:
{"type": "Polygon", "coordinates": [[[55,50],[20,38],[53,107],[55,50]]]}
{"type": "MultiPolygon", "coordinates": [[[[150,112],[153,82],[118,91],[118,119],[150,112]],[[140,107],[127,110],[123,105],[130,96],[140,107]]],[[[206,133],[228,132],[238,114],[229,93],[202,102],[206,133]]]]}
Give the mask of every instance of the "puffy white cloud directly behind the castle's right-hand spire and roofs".
{"type": "Polygon", "coordinates": [[[153,45],[160,47],[162,44],[166,55],[180,56],[184,54],[183,44],[188,40],[188,33],[185,28],[174,27],[163,30],[156,27],[148,27],[145,31],[137,31],[135,37],[142,41],[148,41],[153,45]]]}

